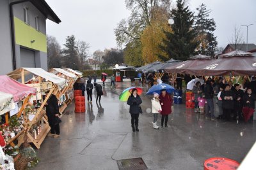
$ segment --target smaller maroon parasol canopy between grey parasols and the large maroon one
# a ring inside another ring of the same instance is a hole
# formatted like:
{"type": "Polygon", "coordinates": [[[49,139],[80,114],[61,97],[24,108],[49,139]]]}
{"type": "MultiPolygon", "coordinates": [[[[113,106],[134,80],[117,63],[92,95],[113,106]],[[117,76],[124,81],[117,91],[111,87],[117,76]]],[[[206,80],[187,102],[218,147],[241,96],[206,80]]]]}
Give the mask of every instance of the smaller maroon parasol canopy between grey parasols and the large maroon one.
{"type": "Polygon", "coordinates": [[[211,57],[207,55],[195,55],[190,57],[189,60],[184,62],[179,62],[179,64],[175,64],[174,66],[166,67],[164,70],[168,73],[186,73],[186,69],[191,67],[200,66],[202,64],[208,63],[211,61],[211,57]]]}

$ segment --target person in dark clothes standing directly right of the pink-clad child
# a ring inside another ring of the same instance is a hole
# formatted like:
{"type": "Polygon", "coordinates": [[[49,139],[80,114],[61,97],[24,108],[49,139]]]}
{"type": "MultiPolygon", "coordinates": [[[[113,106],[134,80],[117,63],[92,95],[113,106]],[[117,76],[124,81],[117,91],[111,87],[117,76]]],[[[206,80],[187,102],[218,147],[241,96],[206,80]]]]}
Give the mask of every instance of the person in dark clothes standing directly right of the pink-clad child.
{"type": "Polygon", "coordinates": [[[208,80],[205,83],[204,86],[204,94],[205,94],[205,99],[207,101],[207,106],[205,108],[205,114],[206,118],[211,118],[211,120],[217,120],[217,118],[214,116],[214,104],[213,104],[213,88],[212,85],[214,84],[214,80],[208,80]],[[211,111],[211,114],[209,113],[211,111]]]}

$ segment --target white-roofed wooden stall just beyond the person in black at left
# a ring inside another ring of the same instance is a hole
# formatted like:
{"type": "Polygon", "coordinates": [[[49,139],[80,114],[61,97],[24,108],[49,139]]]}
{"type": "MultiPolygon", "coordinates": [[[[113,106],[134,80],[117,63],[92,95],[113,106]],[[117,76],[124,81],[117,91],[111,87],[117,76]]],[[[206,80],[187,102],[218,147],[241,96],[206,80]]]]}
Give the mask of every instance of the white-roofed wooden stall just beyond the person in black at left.
{"type": "Polygon", "coordinates": [[[56,76],[60,76],[61,78],[65,78],[67,80],[68,85],[63,90],[61,90],[59,94],[60,96],[57,96],[57,98],[60,99],[60,113],[63,113],[65,108],[67,108],[67,105],[71,103],[74,99],[73,85],[76,82],[78,76],[74,73],[70,73],[60,68],[52,68],[49,70],[49,72],[56,74],[56,76]]]}

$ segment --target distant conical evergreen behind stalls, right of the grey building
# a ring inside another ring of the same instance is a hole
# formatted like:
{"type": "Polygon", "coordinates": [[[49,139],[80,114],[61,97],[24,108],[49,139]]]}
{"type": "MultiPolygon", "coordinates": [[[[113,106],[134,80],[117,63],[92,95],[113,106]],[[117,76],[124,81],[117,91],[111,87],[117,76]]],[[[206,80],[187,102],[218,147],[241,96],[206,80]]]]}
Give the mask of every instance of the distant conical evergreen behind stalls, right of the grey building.
{"type": "Polygon", "coordinates": [[[63,66],[72,69],[79,69],[80,63],[76,51],[77,47],[75,36],[67,36],[64,46],[65,48],[63,48],[61,52],[63,54],[63,66]]]}

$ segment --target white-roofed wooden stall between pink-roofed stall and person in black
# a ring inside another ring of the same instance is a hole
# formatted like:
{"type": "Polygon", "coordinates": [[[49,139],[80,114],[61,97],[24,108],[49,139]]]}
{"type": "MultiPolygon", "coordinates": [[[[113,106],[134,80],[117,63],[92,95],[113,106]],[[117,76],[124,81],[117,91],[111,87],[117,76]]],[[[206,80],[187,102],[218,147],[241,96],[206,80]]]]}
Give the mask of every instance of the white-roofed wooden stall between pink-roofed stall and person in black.
{"type": "Polygon", "coordinates": [[[31,97],[35,108],[26,106],[24,110],[30,113],[28,115],[28,122],[26,122],[29,142],[33,143],[36,148],[40,148],[40,145],[51,129],[45,115],[45,103],[51,94],[60,96],[61,90],[67,86],[67,81],[41,68],[22,67],[12,71],[8,76],[15,80],[21,80],[23,84],[37,89],[36,95],[33,98],[31,97]],[[32,76],[33,78],[31,78],[32,76]],[[50,92],[44,97],[44,92],[47,90],[50,90],[50,92]]]}

